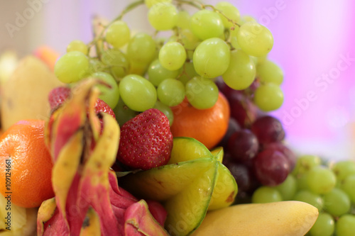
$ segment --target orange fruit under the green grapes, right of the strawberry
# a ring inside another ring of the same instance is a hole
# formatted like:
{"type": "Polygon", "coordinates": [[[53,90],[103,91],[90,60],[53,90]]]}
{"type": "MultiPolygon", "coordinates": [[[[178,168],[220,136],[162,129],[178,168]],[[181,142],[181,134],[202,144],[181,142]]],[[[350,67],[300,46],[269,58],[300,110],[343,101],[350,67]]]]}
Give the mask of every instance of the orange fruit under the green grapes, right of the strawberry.
{"type": "Polygon", "coordinates": [[[211,149],[222,140],[228,129],[229,103],[219,93],[212,108],[199,110],[185,99],[178,106],[171,108],[174,114],[170,130],[173,137],[193,137],[211,149]]]}

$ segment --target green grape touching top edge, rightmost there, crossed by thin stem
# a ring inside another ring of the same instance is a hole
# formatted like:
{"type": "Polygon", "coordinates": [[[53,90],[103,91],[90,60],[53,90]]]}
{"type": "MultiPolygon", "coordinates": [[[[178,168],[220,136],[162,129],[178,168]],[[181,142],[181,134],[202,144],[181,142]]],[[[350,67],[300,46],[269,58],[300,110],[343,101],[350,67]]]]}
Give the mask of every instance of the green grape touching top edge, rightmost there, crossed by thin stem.
{"type": "Polygon", "coordinates": [[[222,12],[219,13],[219,16],[221,17],[224,28],[234,27],[234,24],[231,21],[234,23],[239,22],[240,14],[238,9],[228,1],[219,1],[214,8],[222,12]]]}

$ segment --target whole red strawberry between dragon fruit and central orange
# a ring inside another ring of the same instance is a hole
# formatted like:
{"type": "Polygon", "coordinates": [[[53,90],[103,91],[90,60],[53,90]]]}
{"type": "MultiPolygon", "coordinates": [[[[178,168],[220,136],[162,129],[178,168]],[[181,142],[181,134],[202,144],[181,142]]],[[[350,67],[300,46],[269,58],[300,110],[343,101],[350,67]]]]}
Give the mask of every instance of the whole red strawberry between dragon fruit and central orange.
{"type": "Polygon", "coordinates": [[[151,169],[167,164],[172,148],[168,118],[151,108],[122,125],[117,159],[133,169],[151,169]]]}

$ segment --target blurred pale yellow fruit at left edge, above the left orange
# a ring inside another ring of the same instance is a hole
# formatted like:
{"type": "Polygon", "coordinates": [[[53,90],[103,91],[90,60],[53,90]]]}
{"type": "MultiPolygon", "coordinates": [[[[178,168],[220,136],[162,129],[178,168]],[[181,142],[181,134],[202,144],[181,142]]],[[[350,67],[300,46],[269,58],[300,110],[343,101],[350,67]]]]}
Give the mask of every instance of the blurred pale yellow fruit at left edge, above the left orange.
{"type": "Polygon", "coordinates": [[[47,120],[50,113],[48,94],[63,85],[45,62],[32,55],[23,57],[11,76],[4,80],[6,82],[1,85],[2,130],[18,120],[47,120]]]}

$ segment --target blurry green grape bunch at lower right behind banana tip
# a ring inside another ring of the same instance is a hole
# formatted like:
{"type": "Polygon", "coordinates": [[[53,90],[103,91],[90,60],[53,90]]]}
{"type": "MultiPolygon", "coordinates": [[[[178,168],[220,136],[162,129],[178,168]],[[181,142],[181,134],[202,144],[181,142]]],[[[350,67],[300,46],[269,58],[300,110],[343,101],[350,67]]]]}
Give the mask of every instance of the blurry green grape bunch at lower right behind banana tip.
{"type": "Polygon", "coordinates": [[[307,236],[354,235],[355,161],[324,162],[317,155],[300,155],[283,183],[259,187],[251,201],[303,201],[320,213],[307,236]]]}

